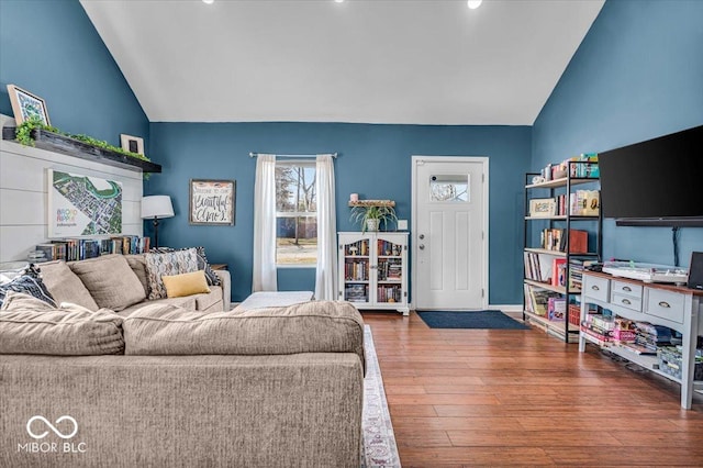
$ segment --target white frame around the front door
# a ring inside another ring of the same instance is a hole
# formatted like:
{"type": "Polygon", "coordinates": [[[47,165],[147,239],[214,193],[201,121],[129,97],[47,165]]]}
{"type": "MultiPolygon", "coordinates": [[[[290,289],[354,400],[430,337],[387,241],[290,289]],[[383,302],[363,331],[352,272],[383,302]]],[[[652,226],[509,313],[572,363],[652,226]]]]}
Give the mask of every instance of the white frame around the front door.
{"type": "Polygon", "coordinates": [[[413,236],[415,235],[415,233],[417,232],[417,200],[416,200],[416,193],[417,193],[417,187],[416,187],[416,181],[417,181],[417,163],[420,160],[426,160],[428,163],[480,163],[481,164],[481,172],[483,175],[482,178],[482,196],[483,196],[483,238],[481,242],[481,270],[483,272],[483,281],[481,285],[481,288],[483,289],[484,293],[483,297],[481,298],[481,308],[483,310],[488,310],[489,308],[489,302],[488,302],[488,298],[489,298],[489,278],[488,278],[488,274],[489,274],[489,201],[488,201],[488,187],[489,187],[489,158],[488,156],[422,156],[422,155],[413,155],[411,157],[411,164],[412,164],[412,192],[411,192],[411,199],[412,199],[412,207],[411,207],[411,214],[412,214],[412,223],[411,223],[411,236],[410,236],[410,245],[412,246],[412,261],[411,261],[411,268],[412,268],[412,274],[411,274],[411,279],[412,279],[412,286],[411,286],[411,294],[412,294],[412,301],[410,304],[410,308],[412,310],[415,310],[415,303],[417,301],[417,243],[415,242],[415,238],[413,238],[413,236]]]}

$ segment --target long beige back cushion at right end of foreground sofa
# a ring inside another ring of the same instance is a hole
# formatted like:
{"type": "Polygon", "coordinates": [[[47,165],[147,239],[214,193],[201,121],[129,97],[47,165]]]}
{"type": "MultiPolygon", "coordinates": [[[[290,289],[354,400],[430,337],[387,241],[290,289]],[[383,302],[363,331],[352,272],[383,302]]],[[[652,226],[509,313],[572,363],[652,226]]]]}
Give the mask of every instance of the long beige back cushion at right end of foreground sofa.
{"type": "Polygon", "coordinates": [[[153,304],[125,317],[123,330],[131,355],[356,353],[364,363],[364,321],[348,302],[312,301],[238,314],[153,304]]]}

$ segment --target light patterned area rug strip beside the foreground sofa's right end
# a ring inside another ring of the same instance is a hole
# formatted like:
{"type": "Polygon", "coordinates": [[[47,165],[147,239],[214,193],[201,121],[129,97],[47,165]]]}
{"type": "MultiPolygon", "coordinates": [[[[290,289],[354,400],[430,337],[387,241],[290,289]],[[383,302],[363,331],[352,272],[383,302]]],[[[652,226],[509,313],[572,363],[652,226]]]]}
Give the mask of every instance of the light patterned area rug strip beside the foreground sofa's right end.
{"type": "Polygon", "coordinates": [[[378,365],[371,327],[364,325],[366,377],[364,378],[364,412],[361,422],[361,468],[400,467],[395,435],[388,411],[381,368],[378,365]]]}

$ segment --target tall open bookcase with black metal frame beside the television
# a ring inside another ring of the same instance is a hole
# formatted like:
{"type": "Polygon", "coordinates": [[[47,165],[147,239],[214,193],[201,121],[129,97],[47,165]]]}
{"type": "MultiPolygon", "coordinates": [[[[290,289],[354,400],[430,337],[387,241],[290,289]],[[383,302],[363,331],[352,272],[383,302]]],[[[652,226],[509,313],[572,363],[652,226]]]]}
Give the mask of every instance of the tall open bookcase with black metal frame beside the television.
{"type": "Polygon", "coordinates": [[[525,175],[523,319],[576,343],[583,269],[601,260],[598,155],[525,175]]]}

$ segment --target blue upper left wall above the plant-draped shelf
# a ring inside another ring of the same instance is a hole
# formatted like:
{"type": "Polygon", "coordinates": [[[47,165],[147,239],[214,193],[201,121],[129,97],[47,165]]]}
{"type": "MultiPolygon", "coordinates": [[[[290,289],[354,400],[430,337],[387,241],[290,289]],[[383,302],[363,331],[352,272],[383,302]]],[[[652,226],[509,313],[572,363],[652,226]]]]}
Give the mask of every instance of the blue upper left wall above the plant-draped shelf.
{"type": "Polygon", "coordinates": [[[148,145],[148,120],[78,0],[0,0],[5,115],[13,114],[9,83],[43,98],[52,124],[64,132],[116,146],[126,133],[148,145]]]}

